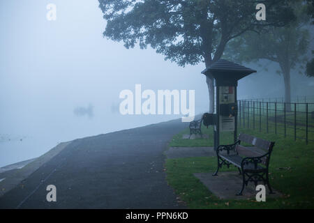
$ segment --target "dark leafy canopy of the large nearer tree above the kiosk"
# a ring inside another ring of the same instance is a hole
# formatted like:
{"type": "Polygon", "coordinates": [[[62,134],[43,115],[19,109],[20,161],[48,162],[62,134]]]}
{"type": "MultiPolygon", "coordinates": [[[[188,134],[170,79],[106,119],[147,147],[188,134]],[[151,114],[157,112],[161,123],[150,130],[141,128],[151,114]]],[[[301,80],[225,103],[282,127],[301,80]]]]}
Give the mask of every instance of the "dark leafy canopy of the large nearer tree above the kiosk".
{"type": "Polygon", "coordinates": [[[179,66],[222,56],[229,40],[246,31],[283,26],[294,18],[287,0],[99,0],[107,26],[103,35],[125,47],[151,46],[179,66]],[[267,20],[257,21],[264,3],[267,20]]]}

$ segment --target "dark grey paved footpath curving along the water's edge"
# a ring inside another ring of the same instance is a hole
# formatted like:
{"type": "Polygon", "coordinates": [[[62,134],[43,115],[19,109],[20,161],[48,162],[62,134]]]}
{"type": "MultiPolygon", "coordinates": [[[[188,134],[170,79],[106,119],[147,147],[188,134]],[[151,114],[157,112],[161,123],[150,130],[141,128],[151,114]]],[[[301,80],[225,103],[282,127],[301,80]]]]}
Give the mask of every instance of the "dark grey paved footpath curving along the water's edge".
{"type": "Polygon", "coordinates": [[[165,180],[167,142],[181,120],[76,139],[0,197],[0,208],[185,208],[165,180]],[[47,202],[46,187],[57,187],[47,202]]]}

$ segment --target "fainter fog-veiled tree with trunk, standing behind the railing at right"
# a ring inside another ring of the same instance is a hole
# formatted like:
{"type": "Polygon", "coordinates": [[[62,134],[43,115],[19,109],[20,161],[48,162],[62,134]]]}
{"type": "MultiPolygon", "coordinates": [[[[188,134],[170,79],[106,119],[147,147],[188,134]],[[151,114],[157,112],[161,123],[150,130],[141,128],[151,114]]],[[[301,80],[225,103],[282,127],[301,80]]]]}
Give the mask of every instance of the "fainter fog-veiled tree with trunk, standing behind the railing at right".
{"type": "MultiPolygon", "coordinates": [[[[307,61],[310,16],[304,1],[290,3],[297,20],[284,27],[269,27],[267,33],[245,33],[230,41],[225,51],[234,61],[252,62],[267,59],[278,63],[285,84],[285,102],[290,102],[290,72],[299,66],[302,70],[307,61]]],[[[301,71],[300,71],[301,72],[301,71]]]]}

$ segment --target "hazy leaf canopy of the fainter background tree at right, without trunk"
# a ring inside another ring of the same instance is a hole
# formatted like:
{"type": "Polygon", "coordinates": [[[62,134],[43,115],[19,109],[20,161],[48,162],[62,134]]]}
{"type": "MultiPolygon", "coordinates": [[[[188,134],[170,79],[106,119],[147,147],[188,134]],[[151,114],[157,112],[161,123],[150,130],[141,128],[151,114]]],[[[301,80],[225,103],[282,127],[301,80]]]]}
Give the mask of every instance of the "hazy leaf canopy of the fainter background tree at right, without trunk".
{"type": "Polygon", "coordinates": [[[279,63],[283,72],[306,62],[308,44],[308,30],[294,24],[267,33],[246,33],[230,42],[224,56],[239,63],[267,59],[279,63]]]}

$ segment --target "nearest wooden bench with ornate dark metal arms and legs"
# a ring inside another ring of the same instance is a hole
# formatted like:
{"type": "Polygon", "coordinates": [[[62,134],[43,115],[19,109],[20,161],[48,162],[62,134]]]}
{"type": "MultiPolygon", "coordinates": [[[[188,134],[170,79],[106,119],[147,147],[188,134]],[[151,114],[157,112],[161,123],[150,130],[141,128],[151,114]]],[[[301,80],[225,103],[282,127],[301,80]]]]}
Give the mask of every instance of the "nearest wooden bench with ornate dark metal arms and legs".
{"type": "Polygon", "coordinates": [[[269,160],[274,142],[258,139],[248,134],[240,134],[239,140],[235,144],[220,145],[216,148],[218,167],[213,174],[217,176],[218,170],[225,164],[228,168],[231,164],[238,167],[239,173],[242,175],[242,188],[237,195],[242,195],[244,187],[248,182],[257,183],[262,181],[267,185],[271,194],[274,192],[269,185],[269,160]],[[241,142],[251,144],[254,147],[241,146],[241,142]]]}

